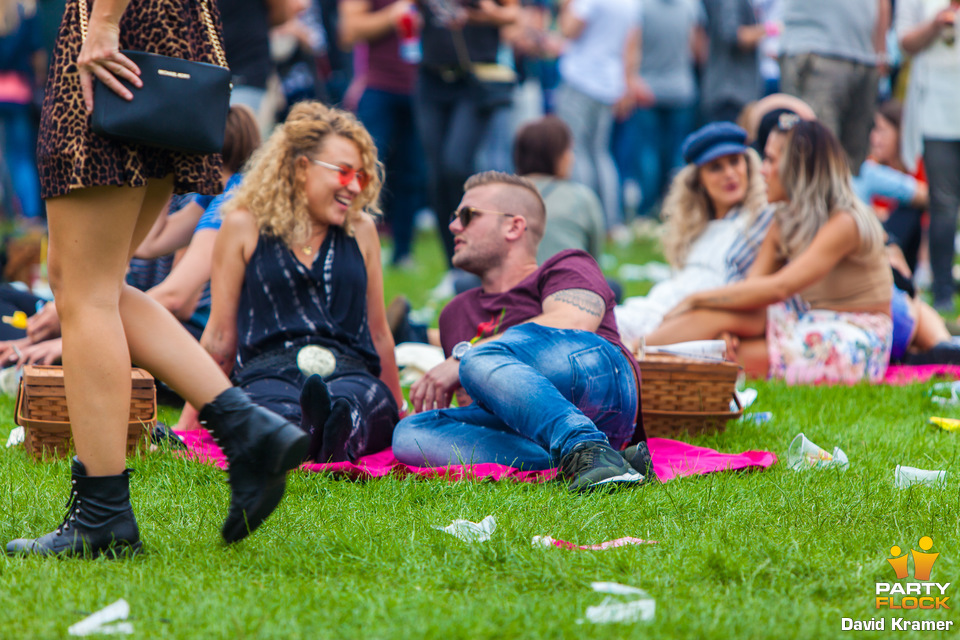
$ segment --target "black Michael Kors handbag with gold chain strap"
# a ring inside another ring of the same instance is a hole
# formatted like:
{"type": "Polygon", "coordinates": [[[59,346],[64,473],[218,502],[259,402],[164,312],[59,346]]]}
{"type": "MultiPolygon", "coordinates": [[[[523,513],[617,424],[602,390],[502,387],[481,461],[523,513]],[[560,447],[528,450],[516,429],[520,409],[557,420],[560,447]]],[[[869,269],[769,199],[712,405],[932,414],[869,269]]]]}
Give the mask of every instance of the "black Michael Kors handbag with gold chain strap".
{"type": "MultiPolygon", "coordinates": [[[[230,70],[206,2],[200,0],[200,12],[220,64],[143,51],[121,51],[140,68],[143,87],[137,89],[121,80],[133,94],[133,100],[127,101],[102,82],[95,82],[90,120],[94,133],[185,153],[220,153],[223,150],[230,109],[230,70]]],[[[84,40],[87,35],[86,5],[86,0],[79,0],[84,40]]]]}

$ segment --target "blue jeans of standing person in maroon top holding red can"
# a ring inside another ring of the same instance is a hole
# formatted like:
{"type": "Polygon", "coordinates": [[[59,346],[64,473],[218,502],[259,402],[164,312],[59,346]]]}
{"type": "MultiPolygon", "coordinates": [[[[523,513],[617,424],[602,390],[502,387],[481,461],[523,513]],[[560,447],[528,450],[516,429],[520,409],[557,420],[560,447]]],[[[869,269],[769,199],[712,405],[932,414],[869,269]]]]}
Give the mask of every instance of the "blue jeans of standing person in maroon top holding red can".
{"type": "Polygon", "coordinates": [[[413,218],[426,201],[427,170],[413,115],[413,96],[367,89],[357,105],[387,170],[384,210],[393,232],[393,264],[410,255],[413,218]]]}

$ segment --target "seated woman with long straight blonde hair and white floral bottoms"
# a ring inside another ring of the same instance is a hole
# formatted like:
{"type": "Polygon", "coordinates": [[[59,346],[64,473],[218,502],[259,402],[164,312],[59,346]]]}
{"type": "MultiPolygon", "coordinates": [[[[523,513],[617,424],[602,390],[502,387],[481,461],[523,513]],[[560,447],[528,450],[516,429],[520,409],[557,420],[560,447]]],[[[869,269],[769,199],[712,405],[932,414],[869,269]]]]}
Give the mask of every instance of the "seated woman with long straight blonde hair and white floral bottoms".
{"type": "Polygon", "coordinates": [[[879,380],[893,279],[883,230],[853,192],[843,148],[822,124],[783,116],[764,177],[770,201],[782,204],[750,276],[687,297],[648,344],[729,337],[751,375],[879,380]]]}

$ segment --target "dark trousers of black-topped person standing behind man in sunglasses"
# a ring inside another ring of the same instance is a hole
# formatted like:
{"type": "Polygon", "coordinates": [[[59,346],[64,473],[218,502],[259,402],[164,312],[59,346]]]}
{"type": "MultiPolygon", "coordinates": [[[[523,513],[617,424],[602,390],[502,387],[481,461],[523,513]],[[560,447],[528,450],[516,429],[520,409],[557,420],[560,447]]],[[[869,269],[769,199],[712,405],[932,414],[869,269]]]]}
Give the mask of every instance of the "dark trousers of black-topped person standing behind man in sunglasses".
{"type": "Polygon", "coordinates": [[[416,113],[427,159],[430,205],[449,262],[453,256],[453,235],[447,226],[450,214],[460,204],[463,183],[474,173],[477,149],[492,111],[477,105],[465,77],[447,82],[421,67],[416,113]]]}

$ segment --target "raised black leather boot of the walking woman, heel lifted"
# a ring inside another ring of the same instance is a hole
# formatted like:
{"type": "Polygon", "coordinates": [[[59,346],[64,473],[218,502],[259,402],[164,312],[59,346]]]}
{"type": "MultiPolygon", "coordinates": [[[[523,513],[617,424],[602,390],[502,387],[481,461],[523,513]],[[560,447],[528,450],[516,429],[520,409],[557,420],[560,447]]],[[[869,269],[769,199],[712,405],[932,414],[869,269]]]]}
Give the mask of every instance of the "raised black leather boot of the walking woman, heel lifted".
{"type": "Polygon", "coordinates": [[[247,537],[280,504],[287,471],[299,465],[310,436],[277,414],[250,402],[236,387],[200,410],[229,464],[230,510],[221,534],[227,542],[247,537]]]}

